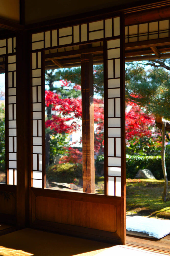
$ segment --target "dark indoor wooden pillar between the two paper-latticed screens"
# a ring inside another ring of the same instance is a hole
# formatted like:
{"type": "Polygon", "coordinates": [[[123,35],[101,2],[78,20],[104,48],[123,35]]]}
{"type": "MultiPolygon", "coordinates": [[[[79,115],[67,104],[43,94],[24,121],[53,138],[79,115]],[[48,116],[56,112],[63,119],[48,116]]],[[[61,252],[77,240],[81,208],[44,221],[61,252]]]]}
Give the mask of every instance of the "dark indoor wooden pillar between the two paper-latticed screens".
{"type": "Polygon", "coordinates": [[[16,35],[16,115],[17,115],[17,225],[25,227],[29,221],[29,36],[16,35]]]}

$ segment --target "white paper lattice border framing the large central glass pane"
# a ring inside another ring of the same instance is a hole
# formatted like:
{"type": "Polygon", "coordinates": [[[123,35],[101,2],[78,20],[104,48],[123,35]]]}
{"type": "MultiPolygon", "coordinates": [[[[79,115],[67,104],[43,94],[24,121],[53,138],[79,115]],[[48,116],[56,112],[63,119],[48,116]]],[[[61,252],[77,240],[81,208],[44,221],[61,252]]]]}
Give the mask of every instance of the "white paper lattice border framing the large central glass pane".
{"type": "MultiPolygon", "coordinates": [[[[121,90],[124,90],[123,26],[120,29],[120,17],[96,22],[89,22],[66,28],[32,34],[32,127],[33,127],[33,164],[32,186],[42,188],[44,177],[43,162],[43,127],[42,90],[44,90],[44,74],[42,74],[42,54],[44,50],[82,45],[90,42],[104,42],[104,108],[105,108],[105,194],[121,196],[121,165],[123,161],[121,145],[124,141],[123,105],[121,90]],[[120,34],[121,31],[121,34],[120,34]],[[121,60],[121,61],[120,61],[121,60]],[[122,109],[122,110],[121,110],[122,109]],[[122,113],[122,114],[121,114],[122,113]]],[[[122,94],[123,95],[123,94],[122,94]]]]}

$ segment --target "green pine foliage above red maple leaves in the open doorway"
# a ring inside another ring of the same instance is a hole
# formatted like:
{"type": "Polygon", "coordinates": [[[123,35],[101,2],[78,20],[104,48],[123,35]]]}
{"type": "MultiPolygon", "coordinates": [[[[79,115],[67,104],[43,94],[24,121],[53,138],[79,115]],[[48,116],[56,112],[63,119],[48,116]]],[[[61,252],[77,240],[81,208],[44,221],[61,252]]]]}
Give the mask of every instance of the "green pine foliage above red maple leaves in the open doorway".
{"type": "Polygon", "coordinates": [[[145,67],[140,63],[126,63],[126,100],[143,106],[154,116],[169,120],[170,73],[161,66],[153,66],[148,71],[145,67]]]}

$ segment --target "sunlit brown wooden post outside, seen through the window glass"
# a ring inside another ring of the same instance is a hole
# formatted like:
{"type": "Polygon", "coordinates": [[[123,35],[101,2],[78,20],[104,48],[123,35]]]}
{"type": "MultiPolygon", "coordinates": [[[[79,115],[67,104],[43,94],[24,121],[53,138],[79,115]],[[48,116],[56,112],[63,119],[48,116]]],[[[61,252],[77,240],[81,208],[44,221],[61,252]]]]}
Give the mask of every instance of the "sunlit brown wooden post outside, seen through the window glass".
{"type": "Polygon", "coordinates": [[[95,193],[93,55],[81,55],[83,192],[95,193]]]}

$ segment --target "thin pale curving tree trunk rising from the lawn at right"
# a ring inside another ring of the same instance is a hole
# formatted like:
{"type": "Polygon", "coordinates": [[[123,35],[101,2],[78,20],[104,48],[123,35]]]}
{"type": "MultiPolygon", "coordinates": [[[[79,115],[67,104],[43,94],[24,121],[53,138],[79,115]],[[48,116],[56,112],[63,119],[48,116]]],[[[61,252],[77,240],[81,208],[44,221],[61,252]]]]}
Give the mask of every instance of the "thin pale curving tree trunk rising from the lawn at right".
{"type": "Polygon", "coordinates": [[[166,165],[165,165],[165,126],[166,123],[162,123],[162,150],[161,150],[161,161],[162,161],[162,170],[163,170],[163,175],[164,175],[164,191],[162,195],[163,201],[166,202],[166,196],[168,192],[168,178],[167,178],[167,173],[166,173],[166,165]]]}

